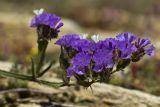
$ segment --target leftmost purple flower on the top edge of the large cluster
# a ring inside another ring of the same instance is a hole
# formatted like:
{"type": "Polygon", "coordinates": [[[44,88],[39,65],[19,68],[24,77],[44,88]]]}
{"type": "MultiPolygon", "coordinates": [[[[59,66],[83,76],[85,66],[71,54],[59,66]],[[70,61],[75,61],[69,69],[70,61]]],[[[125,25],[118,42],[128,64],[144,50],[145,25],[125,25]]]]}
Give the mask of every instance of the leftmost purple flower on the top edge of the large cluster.
{"type": "Polygon", "coordinates": [[[64,47],[71,47],[74,43],[77,43],[78,40],[80,40],[80,35],[66,34],[63,37],[61,37],[59,40],[57,40],[55,44],[58,44],[64,47]]]}

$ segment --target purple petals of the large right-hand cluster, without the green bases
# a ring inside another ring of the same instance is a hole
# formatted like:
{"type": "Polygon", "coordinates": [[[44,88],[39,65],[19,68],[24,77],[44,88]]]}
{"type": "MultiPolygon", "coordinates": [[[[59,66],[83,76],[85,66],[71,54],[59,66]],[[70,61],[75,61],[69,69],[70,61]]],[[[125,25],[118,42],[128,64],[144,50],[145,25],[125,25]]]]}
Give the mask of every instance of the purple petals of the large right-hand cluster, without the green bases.
{"type": "Polygon", "coordinates": [[[88,73],[100,74],[112,72],[113,67],[120,61],[140,59],[143,55],[154,55],[154,46],[147,38],[138,38],[130,32],[124,32],[116,38],[107,38],[95,42],[83,39],[79,34],[67,34],[60,38],[56,44],[73,51],[68,59],[70,66],[67,68],[67,77],[85,76],[88,73]],[[91,72],[88,72],[91,71],[91,72]]]}

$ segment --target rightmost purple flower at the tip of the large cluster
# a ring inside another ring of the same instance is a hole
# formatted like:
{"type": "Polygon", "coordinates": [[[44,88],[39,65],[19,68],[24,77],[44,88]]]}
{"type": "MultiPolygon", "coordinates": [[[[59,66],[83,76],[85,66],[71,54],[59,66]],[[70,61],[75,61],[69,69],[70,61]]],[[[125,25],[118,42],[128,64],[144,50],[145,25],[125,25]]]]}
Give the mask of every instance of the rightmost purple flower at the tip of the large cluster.
{"type": "Polygon", "coordinates": [[[154,55],[155,47],[153,45],[148,46],[151,44],[151,41],[147,38],[140,39],[138,38],[138,42],[135,44],[138,51],[142,50],[144,53],[146,53],[149,56],[154,55]]]}

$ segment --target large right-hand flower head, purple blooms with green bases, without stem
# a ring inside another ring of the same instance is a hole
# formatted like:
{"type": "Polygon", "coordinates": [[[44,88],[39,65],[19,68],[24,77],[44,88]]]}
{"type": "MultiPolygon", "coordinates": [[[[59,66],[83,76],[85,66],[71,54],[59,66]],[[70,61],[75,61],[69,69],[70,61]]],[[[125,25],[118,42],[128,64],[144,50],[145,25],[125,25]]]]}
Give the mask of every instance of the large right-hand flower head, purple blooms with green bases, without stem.
{"type": "Polygon", "coordinates": [[[66,78],[77,79],[85,87],[94,82],[108,82],[110,76],[123,70],[131,62],[139,61],[145,54],[154,55],[154,46],[147,38],[137,38],[131,32],[123,32],[115,38],[98,40],[80,34],[66,34],[57,40],[61,46],[60,63],[66,78]]]}

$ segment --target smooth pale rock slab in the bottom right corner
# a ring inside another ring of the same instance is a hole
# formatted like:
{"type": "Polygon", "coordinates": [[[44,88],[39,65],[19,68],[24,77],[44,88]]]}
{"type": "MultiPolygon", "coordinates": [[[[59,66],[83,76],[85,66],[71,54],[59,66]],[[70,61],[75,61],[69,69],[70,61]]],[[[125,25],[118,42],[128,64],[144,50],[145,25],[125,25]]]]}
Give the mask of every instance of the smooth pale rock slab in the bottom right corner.
{"type": "Polygon", "coordinates": [[[94,84],[94,95],[111,107],[160,107],[160,97],[108,84],[94,84]]]}

